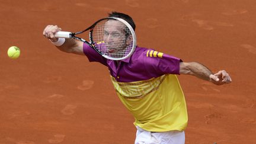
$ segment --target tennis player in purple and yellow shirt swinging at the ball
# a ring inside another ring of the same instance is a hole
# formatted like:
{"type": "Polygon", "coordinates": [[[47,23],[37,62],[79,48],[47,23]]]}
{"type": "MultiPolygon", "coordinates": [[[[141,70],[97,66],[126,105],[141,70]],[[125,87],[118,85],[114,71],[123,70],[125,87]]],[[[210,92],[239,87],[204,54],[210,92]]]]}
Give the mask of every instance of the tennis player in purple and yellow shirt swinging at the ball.
{"type": "MultiPolygon", "coordinates": [[[[108,16],[126,20],[135,30],[135,23],[129,15],[112,12],[108,16]]],[[[187,108],[176,75],[193,75],[216,85],[232,81],[226,71],[213,73],[200,63],[183,62],[144,47],[137,46],[133,55],[124,60],[105,59],[81,41],[57,39],[55,33],[60,30],[56,25],[47,25],[43,36],[63,52],[85,55],[90,62],[107,66],[118,97],[135,117],[136,144],[185,143],[187,108]]]]}

